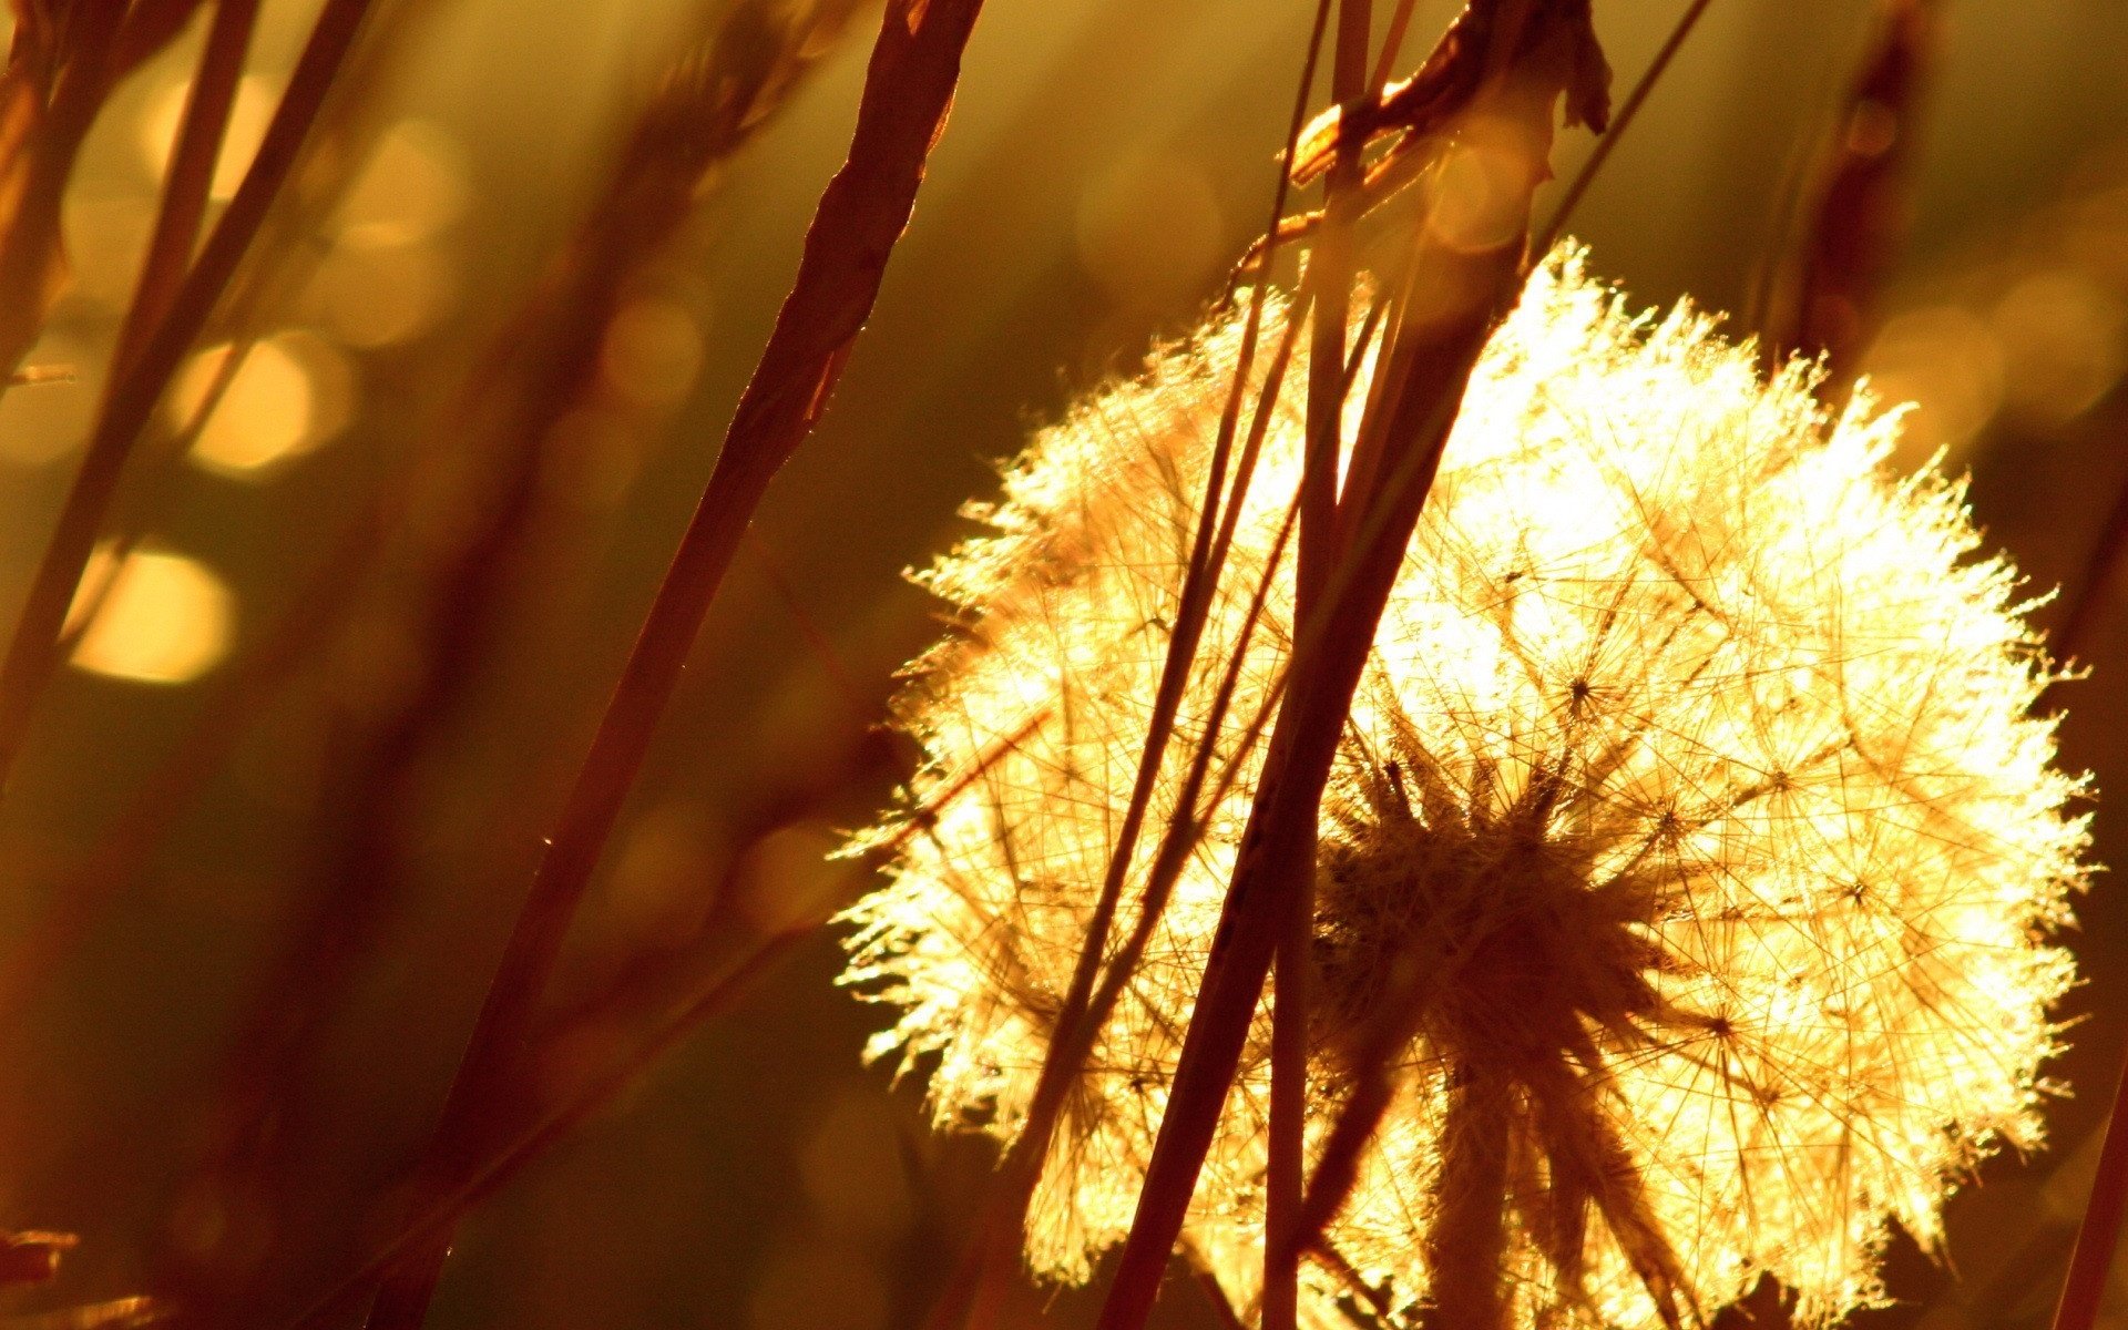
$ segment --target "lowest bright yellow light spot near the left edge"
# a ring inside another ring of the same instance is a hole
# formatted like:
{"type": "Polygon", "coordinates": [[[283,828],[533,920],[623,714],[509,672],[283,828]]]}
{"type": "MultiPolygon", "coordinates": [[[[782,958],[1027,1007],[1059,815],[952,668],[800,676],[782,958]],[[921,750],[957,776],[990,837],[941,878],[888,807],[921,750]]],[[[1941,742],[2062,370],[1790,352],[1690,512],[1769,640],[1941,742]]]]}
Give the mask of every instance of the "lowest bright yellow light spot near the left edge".
{"type": "Polygon", "coordinates": [[[74,645],[74,668],[132,683],[192,683],[230,651],[236,596],[200,560],[136,549],[115,568],[102,551],[83,575],[94,617],[74,645]]]}

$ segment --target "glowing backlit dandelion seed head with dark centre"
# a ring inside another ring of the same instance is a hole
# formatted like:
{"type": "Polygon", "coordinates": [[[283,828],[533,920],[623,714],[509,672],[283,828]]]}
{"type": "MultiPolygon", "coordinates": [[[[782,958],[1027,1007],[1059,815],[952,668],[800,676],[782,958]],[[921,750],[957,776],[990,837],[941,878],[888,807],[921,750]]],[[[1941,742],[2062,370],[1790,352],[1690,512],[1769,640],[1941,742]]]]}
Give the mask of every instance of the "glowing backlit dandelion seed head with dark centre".
{"type": "MultiPolygon", "coordinates": [[[[928,762],[913,811],[860,838],[892,868],[849,913],[847,981],[898,1009],[870,1051],[930,1064],[943,1128],[1026,1124],[1236,345],[1217,323],[1077,406],[926,577],[962,624],[904,698],[928,762]]],[[[2047,936],[2085,845],[2028,715],[2051,675],[1960,489],[1888,475],[1898,415],[1813,387],[1690,309],[1628,315],[1570,251],[1479,362],[1326,798],[1311,1158],[1370,1032],[1396,1053],[1302,1268],[1309,1324],[1639,1330],[1773,1277],[1822,1326],[1883,1300],[1894,1221],[1934,1247],[1975,1162],[2039,1143],[2073,977],[2047,936]]],[[[1275,411],[1151,807],[1196,849],[1028,1213],[1047,1279],[1130,1228],[1247,819],[1294,634],[1302,426],[1275,411]],[[1183,809],[1200,745],[1219,779],[1183,809]]],[[[1183,1230],[1243,1309],[1268,1011],[1183,1230]]]]}

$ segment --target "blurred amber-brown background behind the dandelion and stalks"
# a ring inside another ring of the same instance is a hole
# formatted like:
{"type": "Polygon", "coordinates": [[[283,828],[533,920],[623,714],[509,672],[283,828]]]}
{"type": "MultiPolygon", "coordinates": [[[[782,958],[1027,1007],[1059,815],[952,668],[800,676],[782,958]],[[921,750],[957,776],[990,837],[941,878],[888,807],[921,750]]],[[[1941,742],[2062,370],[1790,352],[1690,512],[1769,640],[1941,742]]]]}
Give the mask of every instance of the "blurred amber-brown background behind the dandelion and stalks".
{"type": "MultiPolygon", "coordinates": [[[[617,279],[566,411],[515,451],[483,447],[521,311],[543,309],[630,123],[726,9],[400,0],[358,47],[319,155],[334,183],[268,223],[177,375],[0,804],[0,951],[21,990],[0,1015],[0,1228],[81,1236],[55,1283],[0,1313],[245,1287],[245,1324],[298,1309],[404,1213],[383,1183],[428,1138],[847,147],[870,4],[845,6],[802,83],[617,279]],[[509,538],[483,545],[496,513],[509,538]],[[260,1138],[270,1160],[247,1156],[260,1138]]],[[[1679,9],[1596,0],[1622,85],[1679,9]]],[[[1577,215],[1594,270],[1751,332],[1879,9],[1713,4],[1577,215]]],[[[1856,364],[1919,402],[1911,462],[1941,449],[1971,472],[2032,594],[2075,600],[2128,485],[2128,9],[1939,9],[1898,126],[1909,226],[1856,364]]],[[[217,206],[315,13],[264,6],[217,206]]],[[[1402,70],[1453,6],[1417,13],[1402,70]]],[[[864,890],[821,855],[909,762],[877,726],[936,621],[902,570],[970,530],[960,504],[992,494],[1030,428],[1217,294],[1262,230],[1311,17],[1302,0],[990,0],[877,313],[609,845],[558,992],[587,1015],[555,1017],[541,1077],[609,1064],[626,1051],[611,1013],[724,964],[704,960],[713,917],[772,936],[864,890]]],[[[64,372],[0,400],[9,611],[94,421],[200,28],[115,87],[66,194],[72,279],[26,360],[64,372]]],[[[1587,147],[1562,140],[1562,174],[1587,147]]],[[[2128,785],[2124,596],[2128,579],[2085,598],[2092,677],[2049,698],[2064,764],[2100,792],[2128,785]]],[[[2117,845],[2100,807],[2096,860],[2117,845]]],[[[2062,1013],[2049,1149],[1994,1160],[1956,1198],[1956,1279],[1896,1241],[1898,1307],[1860,1326],[2045,1324],[2128,1041],[2124,941],[2100,877],[2071,938],[2085,985],[2062,1013]]],[[[430,1324],[915,1324],[990,1153],[932,1136],[919,1085],[862,1066],[883,1019],[836,968],[834,930],[807,934],[519,1173],[460,1232],[430,1324]]],[[[1017,1315],[1092,1309],[1030,1290],[1017,1315]]],[[[1162,1317],[1213,1324],[1181,1283],[1162,1317]]],[[[2128,1296],[2109,1317],[2128,1326],[2128,1296]]]]}

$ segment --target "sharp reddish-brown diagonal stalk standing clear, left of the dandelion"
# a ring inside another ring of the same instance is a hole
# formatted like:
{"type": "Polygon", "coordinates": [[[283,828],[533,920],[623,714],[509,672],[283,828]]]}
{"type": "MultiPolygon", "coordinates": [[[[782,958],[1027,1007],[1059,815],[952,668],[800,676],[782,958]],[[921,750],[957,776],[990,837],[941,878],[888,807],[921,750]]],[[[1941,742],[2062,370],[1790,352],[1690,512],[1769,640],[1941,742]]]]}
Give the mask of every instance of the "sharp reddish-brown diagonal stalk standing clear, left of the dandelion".
{"type": "MultiPolygon", "coordinates": [[[[651,602],[592,749],[577,772],[428,1153],[430,1175],[466,1168],[492,1087],[515,1066],[562,938],[679,683],[702,617],[768,481],[813,432],[909,226],[924,164],[945,128],[981,0],[892,0],[858,106],[849,160],[821,194],[792,294],[726,430],[702,502],[651,602]]],[[[370,1311],[372,1330],[413,1330],[445,1243],[406,1258],[370,1311]]]]}

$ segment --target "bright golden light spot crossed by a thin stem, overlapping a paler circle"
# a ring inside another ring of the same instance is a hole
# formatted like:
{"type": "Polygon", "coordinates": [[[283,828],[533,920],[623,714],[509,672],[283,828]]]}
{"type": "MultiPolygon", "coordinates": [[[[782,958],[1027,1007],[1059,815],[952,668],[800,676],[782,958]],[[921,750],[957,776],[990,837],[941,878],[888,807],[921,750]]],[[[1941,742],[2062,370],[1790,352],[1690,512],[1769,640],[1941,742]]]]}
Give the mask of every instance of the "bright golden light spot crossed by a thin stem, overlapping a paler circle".
{"type": "Polygon", "coordinates": [[[223,343],[194,355],[166,400],[172,430],[206,413],[187,453],[194,466],[264,479],[330,443],[353,411],[353,366],[309,332],[277,332],[240,351],[223,343]],[[226,379],[226,383],[223,383],[226,379]]]}

